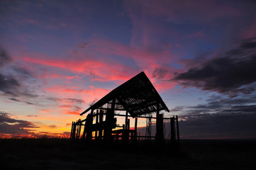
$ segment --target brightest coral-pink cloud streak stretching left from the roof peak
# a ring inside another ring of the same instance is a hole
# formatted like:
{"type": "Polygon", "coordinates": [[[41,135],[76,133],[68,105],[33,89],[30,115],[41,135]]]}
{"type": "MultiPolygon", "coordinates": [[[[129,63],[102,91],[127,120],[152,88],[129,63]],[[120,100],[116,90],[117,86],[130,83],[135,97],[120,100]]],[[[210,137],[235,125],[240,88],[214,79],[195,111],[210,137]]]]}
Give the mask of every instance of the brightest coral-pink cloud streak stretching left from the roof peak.
{"type": "MultiPolygon", "coordinates": [[[[38,56],[38,55],[37,55],[38,56]]],[[[90,57],[79,58],[78,60],[57,60],[52,57],[40,55],[39,58],[22,57],[22,60],[30,64],[40,64],[48,67],[57,67],[69,70],[77,74],[86,74],[92,77],[92,80],[101,81],[126,81],[135,74],[130,67],[119,64],[118,62],[108,60],[96,60],[90,57]]],[[[65,79],[74,79],[78,77],[57,77],[57,74],[46,74],[43,77],[56,77],[65,79]]]]}

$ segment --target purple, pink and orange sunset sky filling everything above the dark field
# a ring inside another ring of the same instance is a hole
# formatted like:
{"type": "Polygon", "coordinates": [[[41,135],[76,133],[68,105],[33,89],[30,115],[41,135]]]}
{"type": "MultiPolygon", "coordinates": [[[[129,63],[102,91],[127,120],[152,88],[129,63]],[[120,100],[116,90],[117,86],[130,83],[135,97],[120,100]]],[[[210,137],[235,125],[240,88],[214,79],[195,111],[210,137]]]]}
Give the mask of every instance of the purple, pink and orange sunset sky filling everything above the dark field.
{"type": "Polygon", "coordinates": [[[145,72],[182,139],[256,138],[256,1],[0,4],[2,137],[69,135],[145,72]]]}

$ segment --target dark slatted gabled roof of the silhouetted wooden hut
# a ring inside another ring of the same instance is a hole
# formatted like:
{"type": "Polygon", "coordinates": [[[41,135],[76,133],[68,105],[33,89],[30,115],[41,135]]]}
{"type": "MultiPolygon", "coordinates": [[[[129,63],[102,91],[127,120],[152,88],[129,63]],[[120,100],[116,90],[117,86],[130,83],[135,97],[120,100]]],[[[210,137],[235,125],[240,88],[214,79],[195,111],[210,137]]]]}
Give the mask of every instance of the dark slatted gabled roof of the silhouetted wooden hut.
{"type": "Polygon", "coordinates": [[[159,104],[160,111],[165,110],[169,112],[169,109],[164,101],[162,101],[162,98],[157,93],[146,74],[140,72],[140,74],[126,81],[124,84],[121,84],[116,89],[113,89],[113,91],[109,92],[80,115],[87,113],[89,110],[98,109],[114,98],[116,98],[118,104],[121,104],[133,117],[156,112],[157,104],[159,104]]]}

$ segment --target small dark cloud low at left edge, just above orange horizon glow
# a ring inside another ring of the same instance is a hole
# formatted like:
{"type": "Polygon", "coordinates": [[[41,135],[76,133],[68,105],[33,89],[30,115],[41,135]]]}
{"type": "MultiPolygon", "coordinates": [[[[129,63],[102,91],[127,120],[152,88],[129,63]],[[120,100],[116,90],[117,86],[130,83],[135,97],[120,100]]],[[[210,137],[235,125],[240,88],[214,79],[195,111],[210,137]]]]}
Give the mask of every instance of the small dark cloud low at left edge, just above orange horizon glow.
{"type": "Polygon", "coordinates": [[[9,113],[0,111],[0,134],[29,135],[33,133],[33,128],[38,127],[25,120],[10,118],[9,113]]]}

